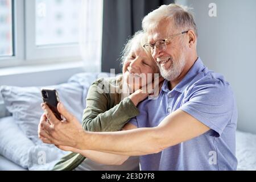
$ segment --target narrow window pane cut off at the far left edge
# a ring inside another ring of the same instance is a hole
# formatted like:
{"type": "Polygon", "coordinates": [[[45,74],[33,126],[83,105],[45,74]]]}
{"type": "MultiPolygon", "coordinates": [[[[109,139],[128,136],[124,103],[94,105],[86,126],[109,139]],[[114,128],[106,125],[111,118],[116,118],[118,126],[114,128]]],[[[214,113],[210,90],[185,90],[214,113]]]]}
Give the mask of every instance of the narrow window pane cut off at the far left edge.
{"type": "Polygon", "coordinates": [[[12,11],[11,0],[0,0],[0,56],[13,56],[12,11]]]}

